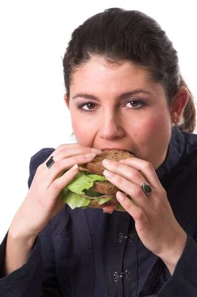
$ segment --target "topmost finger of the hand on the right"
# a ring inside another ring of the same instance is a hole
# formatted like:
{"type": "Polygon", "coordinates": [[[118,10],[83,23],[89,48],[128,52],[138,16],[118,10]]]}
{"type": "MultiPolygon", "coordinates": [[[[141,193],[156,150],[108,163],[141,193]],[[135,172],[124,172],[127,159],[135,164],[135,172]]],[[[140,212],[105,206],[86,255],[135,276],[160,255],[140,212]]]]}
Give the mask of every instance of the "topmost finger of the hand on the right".
{"type": "Polygon", "coordinates": [[[138,158],[127,158],[119,162],[137,169],[152,188],[161,188],[157,173],[150,162],[138,158]]]}

